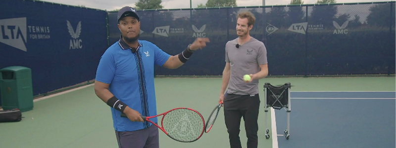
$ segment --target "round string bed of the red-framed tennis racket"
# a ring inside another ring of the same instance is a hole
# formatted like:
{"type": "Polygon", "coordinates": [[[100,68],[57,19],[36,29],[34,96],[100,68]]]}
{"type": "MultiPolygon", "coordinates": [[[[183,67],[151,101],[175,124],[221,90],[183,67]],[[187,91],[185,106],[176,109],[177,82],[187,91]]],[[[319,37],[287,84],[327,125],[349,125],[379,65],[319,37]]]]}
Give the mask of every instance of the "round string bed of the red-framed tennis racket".
{"type": "Polygon", "coordinates": [[[166,113],[162,123],[170,137],[183,142],[198,139],[204,126],[202,117],[188,109],[177,109],[166,113]]]}

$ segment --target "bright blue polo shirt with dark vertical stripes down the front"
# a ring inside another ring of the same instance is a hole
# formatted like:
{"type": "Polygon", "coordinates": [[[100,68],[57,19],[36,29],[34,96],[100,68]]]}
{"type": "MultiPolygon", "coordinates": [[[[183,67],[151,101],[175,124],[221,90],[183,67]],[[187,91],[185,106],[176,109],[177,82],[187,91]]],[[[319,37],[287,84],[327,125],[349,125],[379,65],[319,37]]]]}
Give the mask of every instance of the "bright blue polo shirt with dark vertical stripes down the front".
{"type": "MultiPolygon", "coordinates": [[[[154,89],[154,64],[162,66],[170,55],[149,41],[139,40],[132,50],[122,39],[100,57],[96,80],[110,84],[110,92],[131,109],[144,116],[157,115],[154,89]]],[[[132,122],[111,109],[116,131],[135,131],[151,126],[150,122],[132,122]]],[[[157,118],[151,121],[158,122],[157,118]]]]}

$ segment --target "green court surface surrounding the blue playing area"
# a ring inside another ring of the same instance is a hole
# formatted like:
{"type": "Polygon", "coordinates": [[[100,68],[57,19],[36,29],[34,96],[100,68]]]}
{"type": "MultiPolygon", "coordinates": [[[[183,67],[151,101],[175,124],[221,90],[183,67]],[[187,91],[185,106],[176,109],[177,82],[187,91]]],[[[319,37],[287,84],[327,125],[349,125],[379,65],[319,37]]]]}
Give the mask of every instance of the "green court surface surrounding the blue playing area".
{"type": "MultiPolygon", "coordinates": [[[[199,111],[206,120],[218,103],[221,81],[221,78],[155,78],[158,113],[187,107],[199,111]]],[[[265,82],[273,85],[291,82],[291,91],[395,91],[395,76],[264,78],[259,84],[261,100],[265,82]]],[[[258,148],[273,148],[274,136],[264,138],[265,122],[271,129],[271,112],[265,121],[263,106],[262,100],[258,148]]],[[[0,123],[0,148],[118,148],[109,107],[95,95],[92,85],[36,101],[34,109],[22,115],[20,122],[0,123]]],[[[230,148],[223,110],[212,130],[196,142],[180,143],[161,131],[159,134],[160,148],[230,148]]],[[[246,148],[243,120],[240,137],[246,148]]]]}

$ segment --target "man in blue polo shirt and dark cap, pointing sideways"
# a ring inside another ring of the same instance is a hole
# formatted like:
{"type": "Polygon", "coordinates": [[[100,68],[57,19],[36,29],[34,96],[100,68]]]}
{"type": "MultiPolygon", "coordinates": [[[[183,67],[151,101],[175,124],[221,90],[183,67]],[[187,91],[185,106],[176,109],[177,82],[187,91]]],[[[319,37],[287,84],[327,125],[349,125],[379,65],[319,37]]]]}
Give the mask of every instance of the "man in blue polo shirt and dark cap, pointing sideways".
{"type": "Polygon", "coordinates": [[[209,39],[197,38],[180,54],[171,56],[151,42],[138,39],[139,15],[128,6],[118,11],[118,28],[120,39],[99,60],[95,93],[111,107],[119,148],[159,148],[158,128],[141,118],[157,115],[154,65],[179,68],[209,39]],[[122,112],[128,118],[121,117],[122,112]]]}

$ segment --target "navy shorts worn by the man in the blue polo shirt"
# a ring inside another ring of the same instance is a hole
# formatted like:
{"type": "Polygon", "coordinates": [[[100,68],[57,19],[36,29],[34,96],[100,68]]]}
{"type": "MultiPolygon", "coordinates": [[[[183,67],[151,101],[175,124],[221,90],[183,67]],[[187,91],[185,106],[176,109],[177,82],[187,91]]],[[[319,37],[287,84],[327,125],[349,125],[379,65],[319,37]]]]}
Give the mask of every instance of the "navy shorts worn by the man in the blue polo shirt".
{"type": "Polygon", "coordinates": [[[158,127],[155,125],[138,131],[115,131],[115,135],[118,148],[159,148],[158,127]]]}

